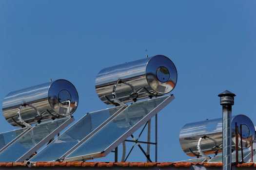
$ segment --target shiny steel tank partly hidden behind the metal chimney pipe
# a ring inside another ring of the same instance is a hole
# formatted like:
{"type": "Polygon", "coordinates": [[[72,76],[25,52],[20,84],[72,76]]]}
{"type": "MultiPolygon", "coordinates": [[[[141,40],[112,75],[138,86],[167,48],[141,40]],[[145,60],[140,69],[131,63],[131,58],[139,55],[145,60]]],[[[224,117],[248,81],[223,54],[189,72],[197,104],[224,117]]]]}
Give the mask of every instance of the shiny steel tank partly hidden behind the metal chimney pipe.
{"type": "MultiPolygon", "coordinates": [[[[238,129],[238,149],[241,149],[240,125],[242,125],[242,146],[248,148],[255,139],[255,127],[251,119],[245,115],[233,116],[231,119],[232,149],[236,149],[236,123],[238,129]],[[253,136],[253,141],[251,141],[253,136]]],[[[204,154],[222,152],[222,118],[204,120],[184,125],[179,134],[182,150],[189,156],[197,156],[197,143],[202,139],[201,150],[204,154]]]]}

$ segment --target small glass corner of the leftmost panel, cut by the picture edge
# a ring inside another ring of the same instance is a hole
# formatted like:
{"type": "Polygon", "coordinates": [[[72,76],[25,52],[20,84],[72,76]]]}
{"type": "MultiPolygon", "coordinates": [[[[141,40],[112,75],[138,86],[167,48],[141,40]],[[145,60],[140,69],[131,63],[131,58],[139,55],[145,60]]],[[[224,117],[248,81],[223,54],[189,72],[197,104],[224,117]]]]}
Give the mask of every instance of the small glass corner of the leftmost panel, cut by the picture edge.
{"type": "Polygon", "coordinates": [[[13,139],[19,136],[26,129],[27,128],[21,128],[9,132],[0,133],[0,149],[2,149],[5,145],[10,143],[13,139]]]}

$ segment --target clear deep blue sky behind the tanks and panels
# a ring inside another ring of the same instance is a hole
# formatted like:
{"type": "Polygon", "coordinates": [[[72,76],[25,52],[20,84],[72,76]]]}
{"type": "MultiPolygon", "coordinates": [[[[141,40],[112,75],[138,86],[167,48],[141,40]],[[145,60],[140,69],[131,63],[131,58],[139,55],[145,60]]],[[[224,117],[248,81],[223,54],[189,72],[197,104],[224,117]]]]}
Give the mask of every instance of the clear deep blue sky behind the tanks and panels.
{"type": "MultiPolygon", "coordinates": [[[[158,114],[158,161],[189,159],[180,129],[220,118],[222,91],[237,95],[233,115],[256,124],[255,9],[255,0],[0,0],[0,100],[67,79],[79,92],[79,119],[109,107],[95,92],[100,69],[163,54],[178,82],[158,114]]],[[[12,129],[0,114],[0,132],[12,129]]],[[[113,161],[110,154],[94,161],[113,161]]],[[[137,147],[128,161],[145,158],[137,147]]]]}

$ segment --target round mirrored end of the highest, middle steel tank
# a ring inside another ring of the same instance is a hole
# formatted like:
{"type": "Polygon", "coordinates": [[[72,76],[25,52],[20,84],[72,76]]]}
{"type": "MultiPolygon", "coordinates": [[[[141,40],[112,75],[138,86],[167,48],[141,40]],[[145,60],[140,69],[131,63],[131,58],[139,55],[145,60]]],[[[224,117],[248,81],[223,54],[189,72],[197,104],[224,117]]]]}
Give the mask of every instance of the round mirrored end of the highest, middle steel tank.
{"type": "Polygon", "coordinates": [[[166,94],[176,86],[177,69],[168,57],[156,55],[147,63],[146,78],[154,91],[159,94],[166,94]]]}

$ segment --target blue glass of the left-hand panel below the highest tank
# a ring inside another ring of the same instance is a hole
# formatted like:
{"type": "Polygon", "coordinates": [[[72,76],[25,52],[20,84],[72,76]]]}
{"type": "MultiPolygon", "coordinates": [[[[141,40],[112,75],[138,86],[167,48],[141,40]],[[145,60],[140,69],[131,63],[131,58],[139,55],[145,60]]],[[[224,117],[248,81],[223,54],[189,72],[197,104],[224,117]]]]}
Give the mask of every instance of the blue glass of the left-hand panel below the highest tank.
{"type": "Polygon", "coordinates": [[[32,157],[30,162],[48,162],[56,161],[64,153],[73,148],[84,137],[89,135],[106,119],[116,113],[121,106],[104,109],[86,114],[83,118],[77,121],[66,132],[61,134],[52,143],[46,146],[42,151],[32,157]]]}

